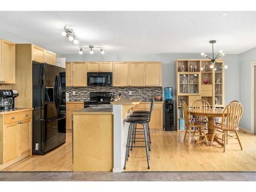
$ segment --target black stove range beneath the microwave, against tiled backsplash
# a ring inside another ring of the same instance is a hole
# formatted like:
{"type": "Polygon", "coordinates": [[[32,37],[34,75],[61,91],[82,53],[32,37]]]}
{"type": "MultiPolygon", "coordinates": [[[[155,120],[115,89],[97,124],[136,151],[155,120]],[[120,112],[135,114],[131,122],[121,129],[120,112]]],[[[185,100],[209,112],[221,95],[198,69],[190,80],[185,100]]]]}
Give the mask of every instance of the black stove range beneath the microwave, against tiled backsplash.
{"type": "Polygon", "coordinates": [[[114,101],[114,92],[90,92],[90,101],[84,101],[84,108],[95,106],[97,104],[110,104],[114,101]]]}

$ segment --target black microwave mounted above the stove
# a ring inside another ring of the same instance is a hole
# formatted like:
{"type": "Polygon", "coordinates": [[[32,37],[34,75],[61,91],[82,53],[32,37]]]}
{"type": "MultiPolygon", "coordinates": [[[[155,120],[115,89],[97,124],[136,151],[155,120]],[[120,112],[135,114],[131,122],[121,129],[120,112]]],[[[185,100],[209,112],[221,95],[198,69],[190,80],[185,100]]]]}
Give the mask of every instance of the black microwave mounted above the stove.
{"type": "Polygon", "coordinates": [[[112,86],[112,73],[87,73],[87,86],[112,86]]]}

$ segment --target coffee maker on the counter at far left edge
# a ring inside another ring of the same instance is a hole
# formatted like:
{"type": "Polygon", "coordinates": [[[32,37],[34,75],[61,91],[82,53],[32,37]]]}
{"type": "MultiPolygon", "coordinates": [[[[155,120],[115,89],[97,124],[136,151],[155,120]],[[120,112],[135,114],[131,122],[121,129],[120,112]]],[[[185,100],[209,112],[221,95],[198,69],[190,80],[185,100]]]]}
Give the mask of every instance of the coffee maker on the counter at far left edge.
{"type": "Polygon", "coordinates": [[[14,98],[17,96],[17,90],[0,90],[0,110],[14,109],[14,98]]]}

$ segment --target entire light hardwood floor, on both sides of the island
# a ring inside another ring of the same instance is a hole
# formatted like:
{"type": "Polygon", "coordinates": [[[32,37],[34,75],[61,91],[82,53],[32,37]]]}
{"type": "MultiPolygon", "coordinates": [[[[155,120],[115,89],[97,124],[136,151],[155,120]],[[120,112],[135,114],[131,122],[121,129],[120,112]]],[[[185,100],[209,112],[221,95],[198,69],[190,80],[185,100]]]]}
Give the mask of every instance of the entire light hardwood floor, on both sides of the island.
{"type": "MultiPolygon", "coordinates": [[[[150,165],[147,169],[145,149],[133,148],[126,164],[130,171],[255,171],[256,135],[239,132],[243,151],[235,139],[229,139],[226,153],[220,145],[212,146],[183,142],[184,132],[151,130],[150,165]]],[[[195,138],[197,139],[197,138],[195,138]]],[[[135,143],[136,145],[142,142],[135,143]]],[[[45,156],[27,157],[3,171],[72,171],[72,134],[67,142],[45,156]]]]}

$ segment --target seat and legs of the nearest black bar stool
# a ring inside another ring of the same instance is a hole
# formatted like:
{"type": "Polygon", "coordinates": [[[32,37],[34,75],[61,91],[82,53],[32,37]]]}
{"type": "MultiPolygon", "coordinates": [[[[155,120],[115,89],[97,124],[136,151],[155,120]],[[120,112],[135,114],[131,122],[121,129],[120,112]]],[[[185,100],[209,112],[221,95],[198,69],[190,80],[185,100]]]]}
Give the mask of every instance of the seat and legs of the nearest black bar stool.
{"type": "Polygon", "coordinates": [[[126,161],[128,160],[128,157],[130,155],[130,148],[131,147],[145,147],[146,148],[146,158],[147,158],[147,168],[150,169],[150,154],[149,154],[149,143],[148,143],[148,134],[147,134],[147,126],[146,124],[149,122],[149,118],[147,117],[129,117],[124,119],[125,122],[130,123],[128,135],[127,135],[127,143],[126,143],[126,152],[125,152],[125,160],[124,160],[124,166],[123,169],[126,168],[126,161]],[[143,125],[143,135],[144,139],[143,142],[145,142],[145,146],[132,146],[133,143],[133,137],[132,133],[135,129],[136,124],[142,124],[143,125]]]}

